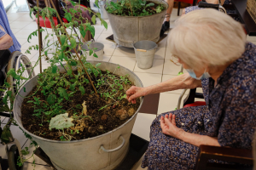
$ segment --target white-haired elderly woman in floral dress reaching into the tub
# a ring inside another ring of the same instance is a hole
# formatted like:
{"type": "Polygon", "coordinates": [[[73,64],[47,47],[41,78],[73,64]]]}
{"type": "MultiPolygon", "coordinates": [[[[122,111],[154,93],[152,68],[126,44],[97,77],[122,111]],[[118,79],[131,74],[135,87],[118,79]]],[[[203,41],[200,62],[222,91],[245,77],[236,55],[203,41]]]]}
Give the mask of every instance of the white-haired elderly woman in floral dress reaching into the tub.
{"type": "Polygon", "coordinates": [[[207,105],[158,116],[142,167],[193,169],[201,144],[251,149],[256,123],[256,46],[241,24],[215,9],[195,10],[176,22],[171,53],[189,73],[147,88],[131,87],[127,99],[181,88],[203,88],[207,105]]]}

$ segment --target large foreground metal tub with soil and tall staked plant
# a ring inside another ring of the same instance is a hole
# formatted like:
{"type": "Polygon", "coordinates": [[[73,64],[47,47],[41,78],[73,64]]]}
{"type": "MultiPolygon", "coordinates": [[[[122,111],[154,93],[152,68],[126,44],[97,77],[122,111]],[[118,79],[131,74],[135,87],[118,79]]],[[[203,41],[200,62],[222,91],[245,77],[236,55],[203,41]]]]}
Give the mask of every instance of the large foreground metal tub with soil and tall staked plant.
{"type": "MultiPolygon", "coordinates": [[[[55,7],[52,0],[49,2],[55,7]]],[[[39,10],[43,19],[51,21],[56,14],[55,8],[32,10],[39,10]]],[[[81,11],[66,11],[69,23],[55,26],[51,22],[54,33],[40,30],[47,34],[39,59],[44,57],[50,66],[37,77],[19,84],[15,101],[10,93],[14,87],[5,83],[4,105],[10,104],[9,111],[14,111],[16,123],[57,169],[113,169],[125,158],[131,129],[143,103],[143,98],[137,99],[136,105],[128,103],[125,90],[143,84],[125,67],[86,60],[88,54],[80,48],[83,42],[73,29],[78,29],[83,37],[86,31],[94,36],[95,29],[90,22],[79,22],[84,19],[75,18],[77,13],[81,11]],[[57,40],[52,42],[54,36],[57,40]]],[[[95,23],[96,16],[107,29],[100,14],[94,14],[92,22],[95,23]]],[[[37,31],[32,32],[28,41],[37,35],[37,31]]],[[[90,46],[90,42],[87,44],[90,46]]],[[[32,45],[27,53],[32,49],[38,49],[38,45],[32,45]]],[[[97,57],[93,49],[89,55],[97,57]]],[[[18,72],[9,73],[9,77],[16,75],[18,72]]],[[[22,153],[26,155],[27,149],[22,153]]],[[[25,160],[20,157],[22,161],[25,160]]]]}

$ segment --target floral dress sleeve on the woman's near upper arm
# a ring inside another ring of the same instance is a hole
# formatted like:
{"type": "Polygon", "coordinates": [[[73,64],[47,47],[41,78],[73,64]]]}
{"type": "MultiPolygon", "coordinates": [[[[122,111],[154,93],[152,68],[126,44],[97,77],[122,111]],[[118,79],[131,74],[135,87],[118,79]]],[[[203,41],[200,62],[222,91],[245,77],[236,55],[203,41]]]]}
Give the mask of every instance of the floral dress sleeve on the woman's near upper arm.
{"type": "Polygon", "coordinates": [[[244,77],[228,89],[226,110],[218,129],[218,143],[242,149],[251,149],[256,122],[255,78],[244,77]]]}

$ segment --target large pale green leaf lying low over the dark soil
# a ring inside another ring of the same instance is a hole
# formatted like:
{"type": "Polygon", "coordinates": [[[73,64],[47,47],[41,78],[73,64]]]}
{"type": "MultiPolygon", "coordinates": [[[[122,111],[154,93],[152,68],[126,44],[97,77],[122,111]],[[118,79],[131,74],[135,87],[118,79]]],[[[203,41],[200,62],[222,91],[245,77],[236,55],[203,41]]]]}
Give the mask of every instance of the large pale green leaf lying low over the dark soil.
{"type": "Polygon", "coordinates": [[[73,118],[68,117],[68,113],[52,117],[49,122],[49,130],[51,130],[52,128],[64,129],[73,126],[73,118]]]}

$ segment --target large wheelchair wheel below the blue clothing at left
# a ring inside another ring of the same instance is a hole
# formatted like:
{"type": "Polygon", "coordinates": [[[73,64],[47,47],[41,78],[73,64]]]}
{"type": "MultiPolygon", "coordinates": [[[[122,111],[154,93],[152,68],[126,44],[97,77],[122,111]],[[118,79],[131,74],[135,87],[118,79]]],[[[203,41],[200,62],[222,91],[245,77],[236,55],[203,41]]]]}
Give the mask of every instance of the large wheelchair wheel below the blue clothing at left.
{"type": "MultiPolygon", "coordinates": [[[[15,69],[15,71],[19,71],[23,65],[25,67],[25,71],[22,73],[22,77],[26,77],[31,79],[32,77],[35,76],[35,72],[32,70],[32,64],[31,61],[26,57],[26,55],[21,54],[19,51],[15,51],[14,53],[11,54],[9,63],[7,65],[7,71],[8,72],[10,69],[15,69]]],[[[13,77],[7,77],[7,82],[14,87],[12,88],[13,95],[15,96],[17,89],[20,88],[20,86],[26,82],[26,80],[15,80],[13,77]],[[20,83],[17,83],[19,81],[20,83]]]]}

